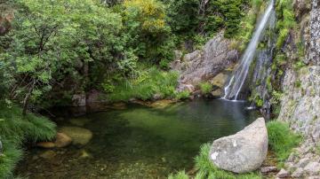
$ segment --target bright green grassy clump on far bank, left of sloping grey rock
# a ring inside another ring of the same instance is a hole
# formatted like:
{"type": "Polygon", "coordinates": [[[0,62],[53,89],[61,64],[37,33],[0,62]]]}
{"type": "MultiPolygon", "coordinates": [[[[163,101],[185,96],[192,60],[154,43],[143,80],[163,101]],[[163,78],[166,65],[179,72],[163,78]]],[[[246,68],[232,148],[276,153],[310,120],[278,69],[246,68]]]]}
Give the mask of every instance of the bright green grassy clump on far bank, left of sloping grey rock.
{"type": "MultiPolygon", "coordinates": [[[[131,98],[148,100],[154,95],[161,97],[174,97],[175,88],[178,82],[176,72],[164,72],[156,67],[141,69],[136,78],[124,81],[120,79],[115,82],[113,92],[109,94],[112,101],[129,101],[131,98]]],[[[108,84],[103,84],[110,85],[108,84]]],[[[109,91],[106,91],[109,92],[109,91]]]]}

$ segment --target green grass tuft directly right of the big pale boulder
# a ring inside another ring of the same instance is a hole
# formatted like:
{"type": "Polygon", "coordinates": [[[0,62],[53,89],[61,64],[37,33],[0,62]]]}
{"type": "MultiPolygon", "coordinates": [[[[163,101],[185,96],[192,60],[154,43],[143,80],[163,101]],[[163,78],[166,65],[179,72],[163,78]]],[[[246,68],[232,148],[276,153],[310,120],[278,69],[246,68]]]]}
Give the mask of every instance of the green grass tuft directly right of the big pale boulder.
{"type": "Polygon", "coordinates": [[[301,136],[294,134],[289,125],[281,121],[270,121],[267,128],[269,146],[276,152],[277,160],[284,162],[292,149],[300,144],[301,136]]]}

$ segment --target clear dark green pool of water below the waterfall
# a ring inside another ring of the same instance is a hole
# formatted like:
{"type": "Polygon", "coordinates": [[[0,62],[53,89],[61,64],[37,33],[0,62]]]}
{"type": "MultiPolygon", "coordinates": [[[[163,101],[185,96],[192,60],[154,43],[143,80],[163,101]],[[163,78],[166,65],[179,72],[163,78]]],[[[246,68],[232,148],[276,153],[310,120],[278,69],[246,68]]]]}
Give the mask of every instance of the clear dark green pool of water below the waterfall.
{"type": "MultiPolygon", "coordinates": [[[[83,117],[92,140],[84,147],[30,149],[17,174],[29,178],[166,178],[192,169],[201,144],[241,130],[257,118],[246,103],[198,99],[156,109],[123,110],[83,117]]],[[[72,126],[68,121],[60,126],[72,126]]]]}

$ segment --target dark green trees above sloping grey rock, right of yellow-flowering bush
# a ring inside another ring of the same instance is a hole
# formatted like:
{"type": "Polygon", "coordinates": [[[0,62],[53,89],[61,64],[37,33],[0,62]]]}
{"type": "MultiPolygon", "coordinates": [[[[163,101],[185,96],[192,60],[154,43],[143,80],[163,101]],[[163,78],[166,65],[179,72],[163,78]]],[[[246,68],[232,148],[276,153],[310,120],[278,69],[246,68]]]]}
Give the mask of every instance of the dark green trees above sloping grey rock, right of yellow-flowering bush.
{"type": "Polygon", "coordinates": [[[214,35],[225,29],[228,38],[236,35],[248,0],[164,0],[169,24],[176,35],[214,35]],[[200,33],[199,33],[200,32],[200,33]]]}

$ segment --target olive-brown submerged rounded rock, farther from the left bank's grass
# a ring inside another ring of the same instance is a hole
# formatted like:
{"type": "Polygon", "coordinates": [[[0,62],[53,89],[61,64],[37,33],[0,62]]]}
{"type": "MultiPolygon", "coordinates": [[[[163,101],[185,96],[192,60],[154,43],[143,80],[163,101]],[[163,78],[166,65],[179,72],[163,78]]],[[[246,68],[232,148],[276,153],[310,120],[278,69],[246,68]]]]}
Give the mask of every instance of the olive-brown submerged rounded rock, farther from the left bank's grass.
{"type": "Polygon", "coordinates": [[[60,132],[70,136],[73,144],[85,145],[92,139],[92,131],[86,128],[62,127],[60,132]]]}

